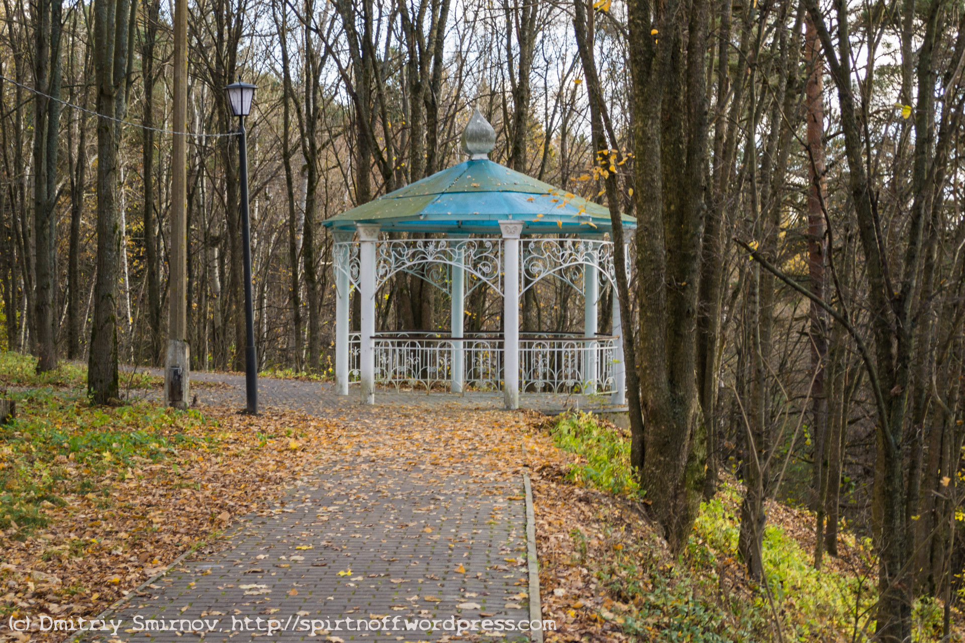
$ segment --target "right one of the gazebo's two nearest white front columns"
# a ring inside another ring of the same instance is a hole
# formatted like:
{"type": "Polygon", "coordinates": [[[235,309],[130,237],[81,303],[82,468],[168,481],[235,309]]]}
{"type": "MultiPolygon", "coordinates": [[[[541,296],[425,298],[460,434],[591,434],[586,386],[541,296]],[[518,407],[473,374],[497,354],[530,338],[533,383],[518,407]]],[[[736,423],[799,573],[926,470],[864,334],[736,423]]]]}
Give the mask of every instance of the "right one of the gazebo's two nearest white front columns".
{"type": "Polygon", "coordinates": [[[503,230],[503,399],[519,408],[519,235],[521,221],[501,221],[503,230]]]}

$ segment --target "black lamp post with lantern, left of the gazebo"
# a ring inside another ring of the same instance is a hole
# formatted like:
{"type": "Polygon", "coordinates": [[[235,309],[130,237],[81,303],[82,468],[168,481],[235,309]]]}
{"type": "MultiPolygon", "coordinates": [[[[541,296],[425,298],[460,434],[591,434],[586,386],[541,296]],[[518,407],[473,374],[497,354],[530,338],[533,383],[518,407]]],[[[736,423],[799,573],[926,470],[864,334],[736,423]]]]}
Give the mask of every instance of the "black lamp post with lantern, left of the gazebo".
{"type": "Polygon", "coordinates": [[[248,149],[245,139],[244,118],[251,113],[251,101],[255,97],[254,85],[240,81],[225,88],[232,115],[238,118],[238,174],[241,175],[241,239],[244,246],[244,316],[247,327],[245,346],[245,389],[248,414],[258,413],[258,359],[255,353],[255,308],[251,295],[251,227],[248,221],[248,149]]]}

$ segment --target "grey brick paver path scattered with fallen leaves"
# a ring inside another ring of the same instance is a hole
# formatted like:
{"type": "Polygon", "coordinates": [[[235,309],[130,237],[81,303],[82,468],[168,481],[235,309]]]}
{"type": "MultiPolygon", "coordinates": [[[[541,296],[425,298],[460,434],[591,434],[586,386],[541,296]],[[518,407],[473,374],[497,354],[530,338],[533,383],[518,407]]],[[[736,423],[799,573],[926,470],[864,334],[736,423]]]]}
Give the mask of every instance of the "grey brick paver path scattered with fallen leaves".
{"type": "MultiPolygon", "coordinates": [[[[261,384],[263,403],[317,412],[317,384],[261,384]]],[[[124,621],[116,636],[85,640],[528,640],[498,625],[529,619],[521,478],[445,475],[417,452],[385,462],[359,450],[300,476],[271,510],[235,522],[227,549],[196,554],[108,616],[124,621]],[[455,638],[460,625],[471,629],[455,638]]]]}

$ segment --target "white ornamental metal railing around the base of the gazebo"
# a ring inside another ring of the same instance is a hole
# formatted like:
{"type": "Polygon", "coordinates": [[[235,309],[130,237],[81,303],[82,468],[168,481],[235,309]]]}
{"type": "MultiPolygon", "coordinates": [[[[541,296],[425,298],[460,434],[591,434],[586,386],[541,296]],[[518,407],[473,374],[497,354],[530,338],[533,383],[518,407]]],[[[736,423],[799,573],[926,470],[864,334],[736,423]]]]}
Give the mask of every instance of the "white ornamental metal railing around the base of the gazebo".
{"type": "MultiPolygon", "coordinates": [[[[519,341],[522,392],[610,393],[616,388],[617,339],[609,335],[524,335],[519,341]]],[[[459,361],[463,390],[502,390],[503,337],[469,334],[452,337],[429,332],[378,333],[372,338],[375,381],[382,386],[451,390],[459,361]]],[[[360,335],[349,335],[349,382],[359,381],[360,335]]]]}

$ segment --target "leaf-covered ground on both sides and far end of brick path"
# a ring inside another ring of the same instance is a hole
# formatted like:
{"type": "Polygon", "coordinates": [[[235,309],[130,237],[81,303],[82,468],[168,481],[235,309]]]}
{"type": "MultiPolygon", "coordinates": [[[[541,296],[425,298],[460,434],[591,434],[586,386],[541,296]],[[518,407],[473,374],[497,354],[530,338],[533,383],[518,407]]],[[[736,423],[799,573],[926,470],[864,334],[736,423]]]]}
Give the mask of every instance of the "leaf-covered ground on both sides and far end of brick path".
{"type": "MultiPolygon", "coordinates": [[[[851,640],[856,609],[856,640],[870,625],[868,551],[845,534],[845,555],[815,573],[805,511],[771,506],[770,582],[748,581],[735,554],[740,489],[732,481],[704,504],[684,553],[671,556],[625,470],[625,437],[593,417],[455,405],[394,405],[338,420],[284,410],[175,412],[147,402],[91,407],[77,373],[33,377],[21,369],[5,378],[27,388],[9,393],[18,418],[0,427],[4,622],[94,616],[181,553],[222,547],[238,517],[285,511],[278,498],[300,473],[373,470],[402,454],[427,482],[529,472],[543,617],[558,624],[550,642],[761,641],[778,640],[778,630],[783,640],[851,640]]],[[[939,616],[935,605],[919,605],[915,640],[935,640],[939,616]]],[[[64,636],[3,627],[3,637],[64,636]]]]}

